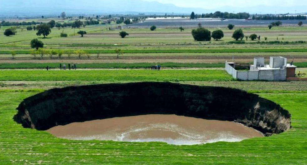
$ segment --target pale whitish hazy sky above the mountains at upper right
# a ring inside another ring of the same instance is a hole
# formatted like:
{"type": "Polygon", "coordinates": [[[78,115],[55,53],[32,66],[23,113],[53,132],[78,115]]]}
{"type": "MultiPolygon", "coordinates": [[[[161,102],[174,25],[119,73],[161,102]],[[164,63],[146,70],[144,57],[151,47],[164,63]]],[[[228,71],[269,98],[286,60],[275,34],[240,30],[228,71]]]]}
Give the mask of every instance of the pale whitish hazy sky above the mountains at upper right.
{"type": "Polygon", "coordinates": [[[307,0],[144,0],[144,1],[157,1],[161,3],[172,3],[179,7],[190,8],[205,8],[216,9],[219,7],[250,7],[250,6],[272,6],[272,7],[292,7],[307,5],[307,0]]]}

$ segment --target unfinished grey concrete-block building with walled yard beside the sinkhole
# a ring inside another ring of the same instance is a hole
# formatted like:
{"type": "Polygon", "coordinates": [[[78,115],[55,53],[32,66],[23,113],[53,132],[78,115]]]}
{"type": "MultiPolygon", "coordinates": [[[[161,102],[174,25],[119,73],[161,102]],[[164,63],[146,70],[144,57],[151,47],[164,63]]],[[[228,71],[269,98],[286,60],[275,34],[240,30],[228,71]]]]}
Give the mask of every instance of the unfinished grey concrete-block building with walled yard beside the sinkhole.
{"type": "Polygon", "coordinates": [[[286,81],[287,78],[295,77],[296,66],[287,64],[287,58],[270,57],[269,64],[264,63],[264,58],[254,58],[249,71],[237,71],[235,63],[225,64],[227,73],[239,80],[267,80],[286,81]]]}

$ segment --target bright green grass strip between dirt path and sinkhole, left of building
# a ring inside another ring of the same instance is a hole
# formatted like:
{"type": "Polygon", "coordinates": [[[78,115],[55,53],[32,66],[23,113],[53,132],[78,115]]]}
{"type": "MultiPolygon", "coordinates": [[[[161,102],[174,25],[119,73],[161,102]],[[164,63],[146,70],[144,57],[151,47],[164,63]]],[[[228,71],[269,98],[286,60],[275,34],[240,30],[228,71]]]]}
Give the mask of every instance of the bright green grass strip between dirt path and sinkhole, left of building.
{"type": "MultiPolygon", "coordinates": [[[[68,67],[68,66],[66,66],[68,67]]],[[[0,81],[231,81],[224,70],[2,70],[0,81]]]]}

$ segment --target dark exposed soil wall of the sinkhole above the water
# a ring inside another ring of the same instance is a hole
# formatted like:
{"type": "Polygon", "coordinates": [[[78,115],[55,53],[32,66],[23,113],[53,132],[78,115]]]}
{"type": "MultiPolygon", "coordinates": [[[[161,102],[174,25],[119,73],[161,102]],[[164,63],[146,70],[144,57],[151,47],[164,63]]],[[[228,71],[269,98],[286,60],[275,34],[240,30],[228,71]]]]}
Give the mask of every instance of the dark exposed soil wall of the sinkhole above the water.
{"type": "Polygon", "coordinates": [[[102,84],[51,89],[26,98],[14,120],[25,128],[145,114],[236,121],[266,136],[290,128],[288,111],[241,90],[174,83],[102,84]]]}

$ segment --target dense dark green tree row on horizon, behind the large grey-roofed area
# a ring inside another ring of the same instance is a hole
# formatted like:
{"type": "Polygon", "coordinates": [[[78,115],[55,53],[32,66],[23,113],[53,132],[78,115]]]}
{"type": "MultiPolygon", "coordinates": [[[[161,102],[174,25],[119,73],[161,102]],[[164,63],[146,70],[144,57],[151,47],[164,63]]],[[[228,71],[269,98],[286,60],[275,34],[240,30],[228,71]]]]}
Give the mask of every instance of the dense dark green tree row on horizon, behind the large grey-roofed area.
{"type": "Polygon", "coordinates": [[[202,13],[202,14],[195,14],[194,12],[191,13],[191,19],[197,18],[225,18],[225,19],[247,19],[250,17],[250,14],[247,12],[239,12],[239,13],[229,13],[229,12],[220,12],[216,11],[215,13],[202,13]]]}

